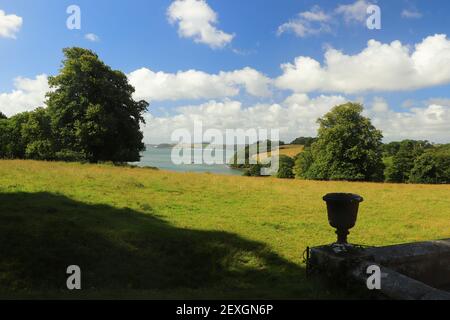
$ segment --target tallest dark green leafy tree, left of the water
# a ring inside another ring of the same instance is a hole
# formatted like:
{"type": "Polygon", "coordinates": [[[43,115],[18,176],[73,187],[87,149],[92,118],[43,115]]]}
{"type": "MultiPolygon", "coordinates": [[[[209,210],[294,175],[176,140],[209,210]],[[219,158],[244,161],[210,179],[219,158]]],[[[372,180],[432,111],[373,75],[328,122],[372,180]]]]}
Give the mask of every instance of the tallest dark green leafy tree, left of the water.
{"type": "Polygon", "coordinates": [[[47,95],[57,153],[90,162],[139,160],[148,103],[135,101],[126,75],[94,52],[68,48],[64,55],[60,73],[49,77],[53,90],[47,95]]]}

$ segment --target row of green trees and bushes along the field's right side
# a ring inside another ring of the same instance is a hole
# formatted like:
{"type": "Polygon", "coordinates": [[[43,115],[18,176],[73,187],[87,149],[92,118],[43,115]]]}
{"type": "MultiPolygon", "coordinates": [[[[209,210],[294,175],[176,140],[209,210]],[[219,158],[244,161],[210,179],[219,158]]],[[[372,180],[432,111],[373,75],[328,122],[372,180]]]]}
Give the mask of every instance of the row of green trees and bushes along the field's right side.
{"type": "MultiPolygon", "coordinates": [[[[450,183],[450,144],[404,140],[382,143],[382,133],[362,116],[360,104],[336,106],[318,120],[318,137],[299,137],[305,146],[294,158],[280,156],[279,178],[450,183]]],[[[245,149],[245,157],[251,155],[245,149]]],[[[263,164],[239,165],[244,175],[259,176],[263,164]]],[[[267,166],[267,164],[266,164],[267,166]]]]}

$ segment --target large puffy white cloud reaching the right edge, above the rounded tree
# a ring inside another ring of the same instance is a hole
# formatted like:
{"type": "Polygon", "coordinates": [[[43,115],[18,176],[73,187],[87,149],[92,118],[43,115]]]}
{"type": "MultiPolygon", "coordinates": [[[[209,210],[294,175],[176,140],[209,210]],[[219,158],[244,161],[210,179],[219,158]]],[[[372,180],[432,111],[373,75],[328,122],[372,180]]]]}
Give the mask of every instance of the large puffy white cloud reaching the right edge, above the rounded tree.
{"type": "Polygon", "coordinates": [[[446,35],[427,37],[414,50],[400,41],[383,44],[370,40],[356,55],[328,49],[325,61],[297,57],[283,64],[276,79],[281,89],[295,92],[413,90],[450,83],[450,40],[446,35]]]}

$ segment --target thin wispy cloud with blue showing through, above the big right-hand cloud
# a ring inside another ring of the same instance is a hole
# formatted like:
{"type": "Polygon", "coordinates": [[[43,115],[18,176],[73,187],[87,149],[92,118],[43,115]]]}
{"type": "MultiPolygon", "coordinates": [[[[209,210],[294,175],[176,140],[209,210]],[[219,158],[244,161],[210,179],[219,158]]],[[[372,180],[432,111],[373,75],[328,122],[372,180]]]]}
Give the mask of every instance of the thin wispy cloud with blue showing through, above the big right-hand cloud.
{"type": "Polygon", "coordinates": [[[304,38],[329,32],[328,21],[331,16],[326,14],[319,6],[314,6],[310,11],[300,12],[298,16],[278,27],[277,34],[293,32],[298,37],[304,38]]]}

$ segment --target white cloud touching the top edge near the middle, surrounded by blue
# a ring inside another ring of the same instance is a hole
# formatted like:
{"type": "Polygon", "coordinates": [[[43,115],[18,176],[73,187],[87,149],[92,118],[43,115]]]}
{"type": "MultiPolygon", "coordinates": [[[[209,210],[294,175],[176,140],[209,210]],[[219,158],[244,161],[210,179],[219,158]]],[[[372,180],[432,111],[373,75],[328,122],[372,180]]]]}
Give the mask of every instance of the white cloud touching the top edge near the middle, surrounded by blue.
{"type": "Polygon", "coordinates": [[[205,0],[176,0],[167,9],[167,16],[170,23],[178,23],[180,37],[193,38],[211,48],[222,48],[234,38],[216,28],[217,13],[205,0]]]}

